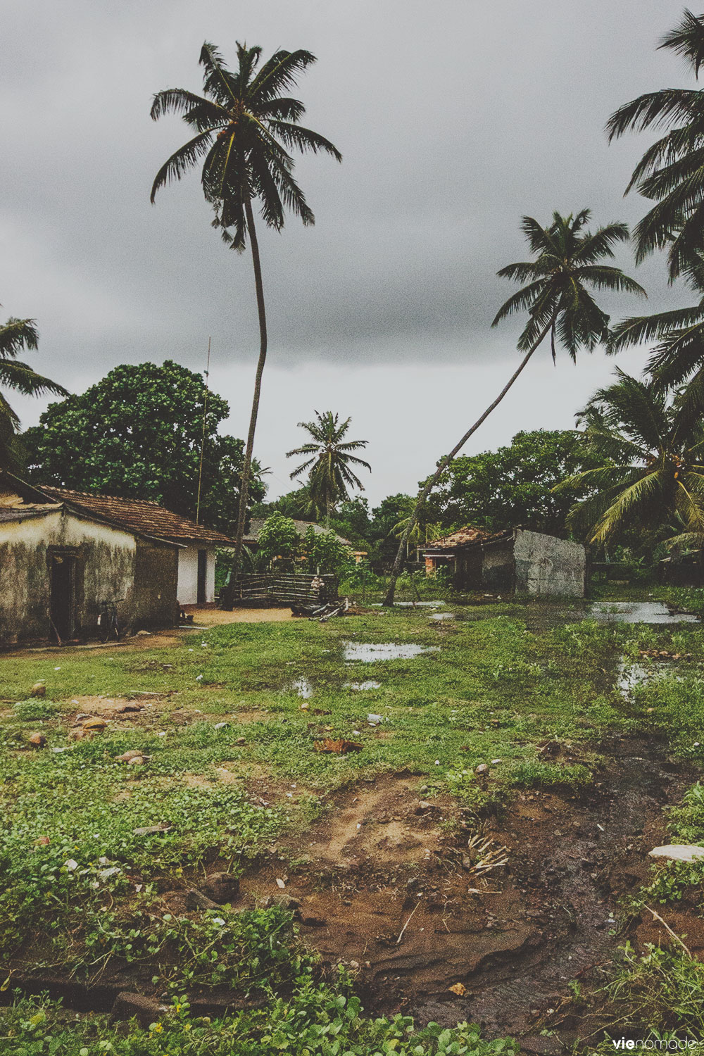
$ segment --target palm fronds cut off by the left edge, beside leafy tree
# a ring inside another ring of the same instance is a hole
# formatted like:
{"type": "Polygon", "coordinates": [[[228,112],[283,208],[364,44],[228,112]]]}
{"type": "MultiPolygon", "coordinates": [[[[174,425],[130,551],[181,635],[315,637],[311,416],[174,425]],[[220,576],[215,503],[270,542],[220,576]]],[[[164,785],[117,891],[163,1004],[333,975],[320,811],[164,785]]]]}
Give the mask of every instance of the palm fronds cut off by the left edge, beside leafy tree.
{"type": "MultiPolygon", "coordinates": [[[[42,377],[17,358],[25,350],[37,348],[38,340],[34,319],[8,319],[0,326],[0,385],[23,396],[40,396],[42,393],[68,396],[63,385],[42,377]]],[[[18,415],[0,393],[0,469],[8,469],[17,464],[15,437],[19,423],[18,415]]]]}

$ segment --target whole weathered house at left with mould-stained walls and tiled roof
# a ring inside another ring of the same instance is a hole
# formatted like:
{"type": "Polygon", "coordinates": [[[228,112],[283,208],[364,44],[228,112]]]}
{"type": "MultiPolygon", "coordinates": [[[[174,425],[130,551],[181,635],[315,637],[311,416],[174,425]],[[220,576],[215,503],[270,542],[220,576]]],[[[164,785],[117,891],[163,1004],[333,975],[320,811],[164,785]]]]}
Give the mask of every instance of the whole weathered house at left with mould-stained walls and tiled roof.
{"type": "Polygon", "coordinates": [[[0,473],[0,643],[92,637],[103,601],[122,627],[173,626],[178,603],[213,600],[215,546],[231,545],[156,503],[0,473]]]}

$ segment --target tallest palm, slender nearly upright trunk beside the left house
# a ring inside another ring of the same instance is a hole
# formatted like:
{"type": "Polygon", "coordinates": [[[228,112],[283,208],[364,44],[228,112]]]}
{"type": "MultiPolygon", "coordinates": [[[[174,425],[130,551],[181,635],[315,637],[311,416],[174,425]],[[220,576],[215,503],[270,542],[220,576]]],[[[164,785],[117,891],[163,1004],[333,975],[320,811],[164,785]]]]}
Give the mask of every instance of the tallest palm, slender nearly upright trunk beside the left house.
{"type": "Polygon", "coordinates": [[[291,150],[319,151],[339,162],[342,155],[334,145],[299,124],[305,107],[286,93],[298,76],[316,61],[306,51],[278,51],[260,67],[261,48],[237,42],[237,70],[232,73],[217,49],[205,43],[199,62],[204,68],[203,95],[183,88],[157,92],[152,103],[154,120],[164,114],[179,114],[195,135],[161,166],[154,180],[151,200],[160,187],[179,180],[202,158],[201,180],[206,201],[213,207],[213,226],[225,242],[240,251],[251,246],[260,325],[260,354],[254,378],[254,394],[242,471],[240,511],[232,560],[231,587],[224,603],[232,606],[234,581],[240,568],[249,497],[254,434],[262,391],[262,375],[267,353],[266,310],[254,227],[252,202],[259,201],[262,220],[280,231],[285,209],[300,216],[304,225],[315,223],[305,195],[293,177],[291,150]]]}

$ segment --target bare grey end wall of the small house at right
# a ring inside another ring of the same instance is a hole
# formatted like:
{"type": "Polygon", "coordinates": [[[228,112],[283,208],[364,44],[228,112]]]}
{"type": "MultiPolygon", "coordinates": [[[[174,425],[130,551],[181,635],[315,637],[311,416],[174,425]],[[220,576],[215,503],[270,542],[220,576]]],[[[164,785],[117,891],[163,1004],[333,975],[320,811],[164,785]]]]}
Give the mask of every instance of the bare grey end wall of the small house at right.
{"type": "Polygon", "coordinates": [[[518,529],[514,558],[518,593],[584,598],[587,555],[579,543],[518,529]]]}

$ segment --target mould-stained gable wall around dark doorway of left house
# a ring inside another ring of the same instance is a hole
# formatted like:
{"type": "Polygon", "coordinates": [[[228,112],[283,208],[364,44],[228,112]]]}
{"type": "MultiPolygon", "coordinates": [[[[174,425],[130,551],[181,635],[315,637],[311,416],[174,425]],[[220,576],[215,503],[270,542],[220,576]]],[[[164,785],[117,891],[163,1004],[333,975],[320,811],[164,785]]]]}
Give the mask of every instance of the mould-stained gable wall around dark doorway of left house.
{"type": "Polygon", "coordinates": [[[121,623],[134,615],[133,535],[65,511],[0,525],[0,642],[51,637],[51,548],[75,551],[75,633],[95,630],[98,602],[122,599],[121,623]]]}

